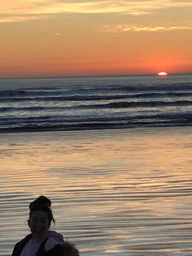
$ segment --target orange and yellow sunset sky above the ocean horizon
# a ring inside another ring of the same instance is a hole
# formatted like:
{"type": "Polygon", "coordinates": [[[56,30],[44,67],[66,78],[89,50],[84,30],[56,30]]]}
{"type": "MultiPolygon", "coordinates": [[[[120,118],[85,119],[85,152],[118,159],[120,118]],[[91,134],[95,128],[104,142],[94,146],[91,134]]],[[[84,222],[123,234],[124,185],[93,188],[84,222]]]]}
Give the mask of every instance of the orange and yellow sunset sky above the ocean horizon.
{"type": "Polygon", "coordinates": [[[192,72],[191,0],[0,2],[0,78],[192,72]]]}

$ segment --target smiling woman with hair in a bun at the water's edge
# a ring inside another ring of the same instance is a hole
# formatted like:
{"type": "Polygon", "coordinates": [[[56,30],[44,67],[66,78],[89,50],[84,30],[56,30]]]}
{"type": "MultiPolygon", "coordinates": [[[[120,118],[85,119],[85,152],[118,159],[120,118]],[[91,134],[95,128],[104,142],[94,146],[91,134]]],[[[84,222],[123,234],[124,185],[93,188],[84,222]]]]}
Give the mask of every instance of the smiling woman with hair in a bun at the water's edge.
{"type": "Polygon", "coordinates": [[[15,244],[12,256],[79,256],[74,244],[65,242],[62,234],[49,230],[55,219],[47,197],[35,199],[30,203],[29,210],[31,233],[15,244]]]}

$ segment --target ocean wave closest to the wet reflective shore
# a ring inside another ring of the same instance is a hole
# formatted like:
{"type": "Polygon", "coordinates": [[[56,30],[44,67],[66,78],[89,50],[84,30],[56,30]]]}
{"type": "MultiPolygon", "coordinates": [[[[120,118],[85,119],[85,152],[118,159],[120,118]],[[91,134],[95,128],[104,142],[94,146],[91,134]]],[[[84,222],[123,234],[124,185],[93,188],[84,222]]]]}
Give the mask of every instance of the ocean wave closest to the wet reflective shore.
{"type": "MultiPolygon", "coordinates": [[[[180,124],[180,123],[185,123],[190,125],[192,123],[192,115],[191,113],[169,113],[169,114],[151,114],[151,115],[127,115],[127,116],[102,116],[102,117],[75,117],[74,116],[61,116],[61,115],[56,115],[56,116],[41,116],[41,117],[36,117],[36,116],[30,116],[30,117],[2,117],[0,118],[0,130],[5,129],[7,126],[8,127],[15,127],[17,129],[23,127],[44,127],[46,126],[47,128],[50,127],[50,129],[57,129],[57,127],[77,127],[79,126],[91,126],[94,124],[99,124],[100,126],[102,125],[112,125],[114,126],[115,124],[121,124],[121,125],[128,125],[129,124],[154,124],[156,125],[157,123],[167,123],[167,124],[180,124]]],[[[8,128],[7,127],[7,128],[8,128]]]]}

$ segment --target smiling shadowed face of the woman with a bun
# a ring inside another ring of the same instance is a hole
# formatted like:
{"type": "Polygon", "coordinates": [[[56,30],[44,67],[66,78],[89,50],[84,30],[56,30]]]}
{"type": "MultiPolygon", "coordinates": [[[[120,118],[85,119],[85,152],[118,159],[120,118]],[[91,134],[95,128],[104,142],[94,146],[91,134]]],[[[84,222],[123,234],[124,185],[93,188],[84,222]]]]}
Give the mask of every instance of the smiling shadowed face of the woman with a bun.
{"type": "Polygon", "coordinates": [[[44,238],[50,226],[48,215],[45,211],[42,210],[34,210],[30,220],[28,221],[28,224],[31,229],[33,238],[37,239],[44,238]]]}

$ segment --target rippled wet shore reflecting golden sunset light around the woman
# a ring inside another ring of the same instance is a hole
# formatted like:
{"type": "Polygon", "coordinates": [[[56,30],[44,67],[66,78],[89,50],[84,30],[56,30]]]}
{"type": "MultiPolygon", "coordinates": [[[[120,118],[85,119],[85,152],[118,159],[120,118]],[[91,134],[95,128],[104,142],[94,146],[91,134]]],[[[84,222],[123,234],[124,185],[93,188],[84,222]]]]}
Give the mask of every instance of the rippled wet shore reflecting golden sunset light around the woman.
{"type": "Polygon", "coordinates": [[[0,255],[50,197],[81,255],[191,255],[191,127],[1,134],[0,255]]]}

